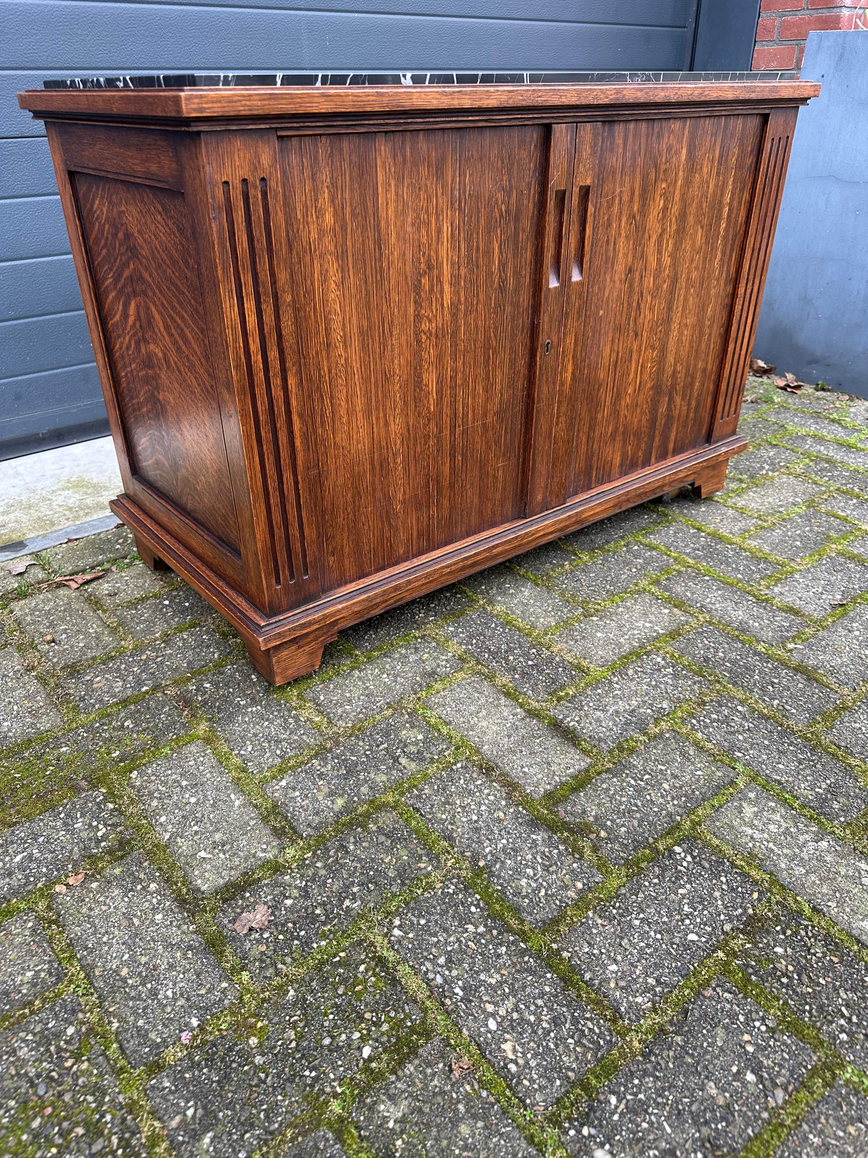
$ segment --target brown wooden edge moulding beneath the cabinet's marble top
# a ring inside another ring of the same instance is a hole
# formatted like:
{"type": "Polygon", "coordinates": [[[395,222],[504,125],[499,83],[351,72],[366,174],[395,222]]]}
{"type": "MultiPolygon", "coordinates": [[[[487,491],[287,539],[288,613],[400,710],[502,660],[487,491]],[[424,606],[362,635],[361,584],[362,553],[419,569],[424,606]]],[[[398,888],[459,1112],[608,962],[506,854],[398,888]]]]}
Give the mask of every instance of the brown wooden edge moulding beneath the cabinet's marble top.
{"type": "Polygon", "coordinates": [[[690,107],[694,103],[803,104],[819,93],[815,81],[700,81],[648,85],[540,85],[532,89],[492,85],[454,88],[393,87],[314,89],[29,89],[19,105],[37,119],[79,113],[160,120],[221,120],[249,117],[329,116],[361,112],[483,110],[576,110],[690,107]]]}

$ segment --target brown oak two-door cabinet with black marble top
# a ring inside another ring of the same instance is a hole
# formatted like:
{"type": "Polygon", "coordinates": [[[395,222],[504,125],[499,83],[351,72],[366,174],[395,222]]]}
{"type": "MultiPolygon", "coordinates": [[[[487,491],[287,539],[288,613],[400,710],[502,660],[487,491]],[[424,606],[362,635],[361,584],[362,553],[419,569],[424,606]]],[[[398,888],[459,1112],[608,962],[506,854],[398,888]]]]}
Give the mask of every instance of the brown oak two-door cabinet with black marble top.
{"type": "Polygon", "coordinates": [[[797,107],[819,90],[311,81],[19,96],[51,142],[112,510],[273,683],[351,623],[722,486],[797,107]]]}

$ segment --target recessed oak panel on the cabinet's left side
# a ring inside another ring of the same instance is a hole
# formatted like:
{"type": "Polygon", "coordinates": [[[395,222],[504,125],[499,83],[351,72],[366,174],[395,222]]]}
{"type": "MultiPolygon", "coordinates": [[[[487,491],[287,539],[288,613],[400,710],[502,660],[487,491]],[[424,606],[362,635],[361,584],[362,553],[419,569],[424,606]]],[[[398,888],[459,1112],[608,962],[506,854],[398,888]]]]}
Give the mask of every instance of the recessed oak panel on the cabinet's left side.
{"type": "Polygon", "coordinates": [[[184,195],[72,175],[134,478],[238,551],[184,195]]]}

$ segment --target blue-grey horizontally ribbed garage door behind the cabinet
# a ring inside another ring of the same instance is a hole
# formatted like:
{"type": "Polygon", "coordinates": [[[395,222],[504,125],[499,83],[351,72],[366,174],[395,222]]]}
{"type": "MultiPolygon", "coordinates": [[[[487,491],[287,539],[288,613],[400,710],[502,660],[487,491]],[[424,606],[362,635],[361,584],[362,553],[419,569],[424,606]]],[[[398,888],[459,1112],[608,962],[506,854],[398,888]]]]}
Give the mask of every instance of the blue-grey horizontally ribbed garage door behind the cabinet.
{"type": "Polygon", "coordinates": [[[0,0],[0,459],[108,430],[47,144],[17,90],[118,72],[681,68],[691,7],[0,0]]]}

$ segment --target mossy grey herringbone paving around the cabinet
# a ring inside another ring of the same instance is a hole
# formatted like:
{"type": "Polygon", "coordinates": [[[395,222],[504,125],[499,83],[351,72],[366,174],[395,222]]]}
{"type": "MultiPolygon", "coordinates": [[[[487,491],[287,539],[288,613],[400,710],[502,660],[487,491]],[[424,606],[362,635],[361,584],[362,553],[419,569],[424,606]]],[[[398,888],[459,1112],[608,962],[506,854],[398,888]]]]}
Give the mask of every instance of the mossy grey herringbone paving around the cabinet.
{"type": "Polygon", "coordinates": [[[748,394],[277,691],[123,529],[0,572],[0,1155],[868,1153],[868,415],[748,394]]]}

